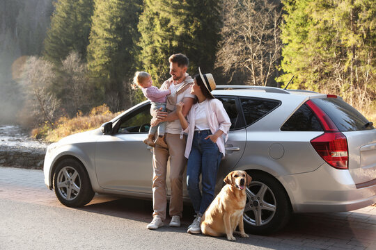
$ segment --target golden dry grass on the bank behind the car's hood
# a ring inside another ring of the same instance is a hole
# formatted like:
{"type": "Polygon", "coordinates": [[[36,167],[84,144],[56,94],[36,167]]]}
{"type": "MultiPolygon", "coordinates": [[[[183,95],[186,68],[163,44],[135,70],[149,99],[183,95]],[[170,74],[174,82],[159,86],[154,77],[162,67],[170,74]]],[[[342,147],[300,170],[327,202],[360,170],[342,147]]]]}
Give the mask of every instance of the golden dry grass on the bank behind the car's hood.
{"type": "Polygon", "coordinates": [[[57,142],[65,136],[99,128],[104,122],[108,122],[118,114],[111,113],[104,104],[93,108],[89,115],[83,115],[79,112],[72,119],[61,117],[55,122],[55,128],[50,128],[46,124],[34,129],[31,133],[35,138],[42,138],[47,142],[57,142]]]}

